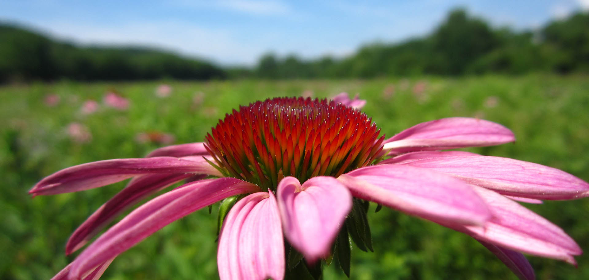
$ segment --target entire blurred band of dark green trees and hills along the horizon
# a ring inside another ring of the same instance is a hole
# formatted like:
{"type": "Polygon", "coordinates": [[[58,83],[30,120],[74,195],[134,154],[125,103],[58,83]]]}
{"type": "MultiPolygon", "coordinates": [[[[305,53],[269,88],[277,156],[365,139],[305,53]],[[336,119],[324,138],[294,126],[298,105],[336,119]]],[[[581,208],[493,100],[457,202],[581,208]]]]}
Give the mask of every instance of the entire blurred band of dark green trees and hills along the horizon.
{"type": "Polygon", "coordinates": [[[219,67],[148,48],[78,47],[0,25],[0,81],[208,80],[223,78],[371,78],[395,75],[521,74],[589,71],[589,14],[578,12],[535,31],[492,28],[462,9],[431,34],[364,45],[345,58],[263,55],[254,67],[219,67]]]}

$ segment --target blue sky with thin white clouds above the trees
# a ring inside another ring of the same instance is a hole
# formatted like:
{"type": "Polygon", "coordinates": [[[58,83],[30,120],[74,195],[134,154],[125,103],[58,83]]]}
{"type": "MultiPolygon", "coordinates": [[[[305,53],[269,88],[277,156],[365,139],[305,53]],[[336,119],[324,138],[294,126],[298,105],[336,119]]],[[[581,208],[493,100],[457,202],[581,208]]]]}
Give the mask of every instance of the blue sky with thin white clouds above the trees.
{"type": "Polygon", "coordinates": [[[359,2],[6,0],[0,21],[81,45],[145,45],[223,65],[254,65],[269,51],[342,57],[369,42],[425,35],[456,7],[514,29],[589,9],[589,0],[359,2]]]}

